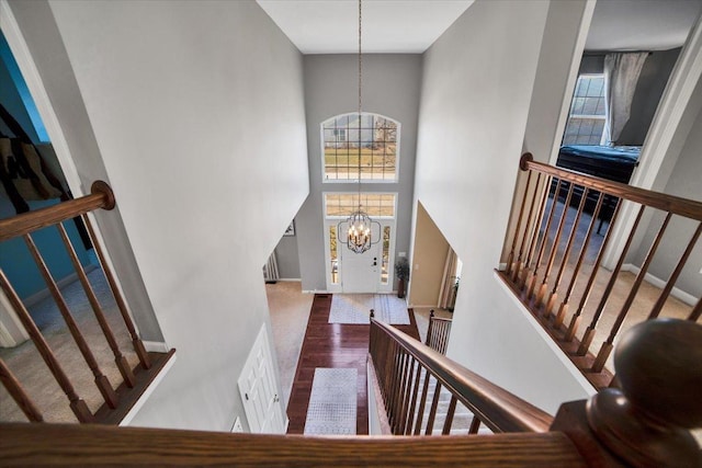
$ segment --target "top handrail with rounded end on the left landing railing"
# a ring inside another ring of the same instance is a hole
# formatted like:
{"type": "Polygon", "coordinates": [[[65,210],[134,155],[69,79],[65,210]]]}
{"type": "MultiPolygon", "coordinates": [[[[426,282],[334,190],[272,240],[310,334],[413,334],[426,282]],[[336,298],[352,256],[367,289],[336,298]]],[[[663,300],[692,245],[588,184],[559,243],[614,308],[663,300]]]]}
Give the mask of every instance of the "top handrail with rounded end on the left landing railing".
{"type": "Polygon", "coordinates": [[[109,210],[114,206],[114,194],[110,185],[103,181],[95,181],[90,187],[90,195],[23,213],[12,218],[0,219],[0,242],[75,218],[93,209],[109,210]]]}

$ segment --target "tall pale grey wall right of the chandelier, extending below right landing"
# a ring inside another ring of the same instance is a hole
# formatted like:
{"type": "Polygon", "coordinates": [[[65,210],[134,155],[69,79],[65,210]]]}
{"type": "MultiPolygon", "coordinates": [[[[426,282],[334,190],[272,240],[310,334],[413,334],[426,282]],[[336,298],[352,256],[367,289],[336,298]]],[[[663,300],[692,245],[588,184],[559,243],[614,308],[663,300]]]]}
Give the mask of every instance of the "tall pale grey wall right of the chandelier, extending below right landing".
{"type": "Polygon", "coordinates": [[[449,356],[554,412],[588,385],[491,273],[547,12],[546,1],[477,1],[427,52],[415,193],[464,262],[449,356]]]}

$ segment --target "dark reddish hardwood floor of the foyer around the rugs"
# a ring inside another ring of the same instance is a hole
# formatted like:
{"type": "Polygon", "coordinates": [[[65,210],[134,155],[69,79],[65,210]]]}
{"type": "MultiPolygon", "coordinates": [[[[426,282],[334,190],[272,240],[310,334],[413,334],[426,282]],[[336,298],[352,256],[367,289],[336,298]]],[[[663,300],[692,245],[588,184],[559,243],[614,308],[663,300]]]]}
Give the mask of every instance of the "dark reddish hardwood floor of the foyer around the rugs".
{"type": "MultiPolygon", "coordinates": [[[[305,340],[287,404],[288,434],[303,434],[312,380],[316,367],[355,367],[359,370],[356,434],[369,433],[366,361],[370,326],[328,323],[331,294],[316,294],[309,312],[305,340]]],[[[408,326],[395,326],[419,340],[415,313],[409,309],[408,326]]]]}

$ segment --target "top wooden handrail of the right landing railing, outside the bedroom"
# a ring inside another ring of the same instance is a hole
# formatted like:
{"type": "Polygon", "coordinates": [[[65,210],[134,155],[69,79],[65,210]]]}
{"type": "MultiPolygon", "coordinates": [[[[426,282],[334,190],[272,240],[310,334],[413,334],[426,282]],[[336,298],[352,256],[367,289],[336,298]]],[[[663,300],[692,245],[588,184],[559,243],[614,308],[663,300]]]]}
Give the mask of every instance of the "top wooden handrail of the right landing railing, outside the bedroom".
{"type": "Polygon", "coordinates": [[[531,169],[544,174],[556,176],[559,180],[574,182],[585,187],[605,192],[609,195],[614,195],[620,198],[625,198],[641,203],[642,205],[702,221],[701,202],[626,185],[620,182],[608,181],[607,179],[596,178],[593,175],[585,175],[578,172],[558,169],[554,165],[534,161],[534,157],[531,152],[522,155],[519,167],[522,171],[529,171],[531,169]]]}

